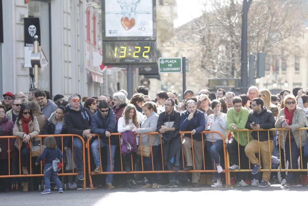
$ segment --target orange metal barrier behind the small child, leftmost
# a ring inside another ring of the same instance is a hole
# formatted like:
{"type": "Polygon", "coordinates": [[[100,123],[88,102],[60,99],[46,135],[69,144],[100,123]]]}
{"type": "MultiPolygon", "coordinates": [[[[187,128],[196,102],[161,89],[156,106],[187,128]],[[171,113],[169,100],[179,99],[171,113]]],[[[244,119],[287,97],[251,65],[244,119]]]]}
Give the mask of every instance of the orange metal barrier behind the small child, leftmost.
{"type": "MultiPolygon", "coordinates": [[[[63,153],[63,137],[71,137],[72,138],[72,162],[73,162],[73,172],[72,173],[64,173],[64,164],[63,164],[63,159],[62,159],[62,173],[58,173],[58,176],[68,176],[68,175],[77,175],[78,173],[74,172],[74,147],[73,147],[73,143],[74,143],[74,137],[78,137],[82,143],[83,143],[83,173],[85,174],[86,172],[86,164],[85,164],[85,142],[83,140],[83,137],[79,136],[79,135],[75,135],[75,134],[54,134],[54,135],[38,135],[36,137],[40,137],[40,141],[41,141],[41,153],[42,153],[42,138],[43,137],[50,137],[53,136],[55,138],[59,138],[61,137],[61,142],[62,142],[62,148],[59,148],[62,153],[63,153]]],[[[20,148],[20,146],[22,145],[22,139],[16,136],[1,136],[0,139],[8,139],[8,150],[10,150],[10,139],[12,138],[16,138],[18,139],[18,146],[20,148]]],[[[20,149],[16,148],[19,151],[16,151],[17,156],[19,157],[19,174],[17,175],[11,175],[11,171],[10,171],[10,152],[8,153],[8,162],[9,162],[9,175],[0,175],[0,178],[13,178],[13,177],[43,177],[44,173],[43,173],[43,166],[41,164],[41,173],[40,174],[32,174],[32,158],[31,157],[31,140],[30,140],[30,174],[21,174],[21,156],[20,156],[20,149]]],[[[37,158],[37,157],[36,157],[37,158]]],[[[83,180],[83,189],[86,189],[86,178],[84,178],[83,180]]]]}

